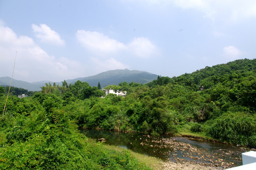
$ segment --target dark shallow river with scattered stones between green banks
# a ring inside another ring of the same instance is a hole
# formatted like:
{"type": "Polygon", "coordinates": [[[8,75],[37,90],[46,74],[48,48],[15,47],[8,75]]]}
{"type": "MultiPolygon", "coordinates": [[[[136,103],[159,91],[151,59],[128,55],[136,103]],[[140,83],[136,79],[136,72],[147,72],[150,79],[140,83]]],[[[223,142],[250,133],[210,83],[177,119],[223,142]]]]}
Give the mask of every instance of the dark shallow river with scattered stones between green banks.
{"type": "Polygon", "coordinates": [[[104,138],[106,144],[154,156],[163,161],[193,161],[224,168],[242,165],[241,153],[247,152],[245,148],[229,144],[191,140],[179,136],[153,137],[140,133],[95,129],[81,129],[81,133],[94,140],[104,138]]]}

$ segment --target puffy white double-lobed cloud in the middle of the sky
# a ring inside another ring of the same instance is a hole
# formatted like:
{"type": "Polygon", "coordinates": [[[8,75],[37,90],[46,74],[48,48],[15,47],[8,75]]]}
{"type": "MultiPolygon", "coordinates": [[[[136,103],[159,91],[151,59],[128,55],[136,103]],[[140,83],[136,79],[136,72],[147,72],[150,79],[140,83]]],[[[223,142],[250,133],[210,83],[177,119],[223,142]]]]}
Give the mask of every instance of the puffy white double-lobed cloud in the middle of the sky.
{"type": "Polygon", "coordinates": [[[154,56],[158,51],[156,46],[145,37],[136,37],[128,44],[124,44],[98,32],[78,30],[76,36],[88,51],[99,56],[129,53],[136,57],[146,58],[154,56]]]}

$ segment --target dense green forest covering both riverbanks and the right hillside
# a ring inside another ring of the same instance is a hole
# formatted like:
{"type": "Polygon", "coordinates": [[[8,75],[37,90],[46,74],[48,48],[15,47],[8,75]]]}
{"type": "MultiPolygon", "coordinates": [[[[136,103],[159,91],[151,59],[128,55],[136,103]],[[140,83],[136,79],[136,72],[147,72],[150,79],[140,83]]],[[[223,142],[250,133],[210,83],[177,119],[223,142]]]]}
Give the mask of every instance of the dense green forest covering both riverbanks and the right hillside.
{"type": "MultiPolygon", "coordinates": [[[[125,97],[65,80],[22,99],[13,93],[0,117],[0,169],[147,169],[128,152],[90,142],[77,127],[187,133],[255,148],[255,68],[256,59],[239,59],[145,85],[105,87],[127,91],[125,97]]],[[[5,100],[0,87],[1,108],[5,100]]]]}

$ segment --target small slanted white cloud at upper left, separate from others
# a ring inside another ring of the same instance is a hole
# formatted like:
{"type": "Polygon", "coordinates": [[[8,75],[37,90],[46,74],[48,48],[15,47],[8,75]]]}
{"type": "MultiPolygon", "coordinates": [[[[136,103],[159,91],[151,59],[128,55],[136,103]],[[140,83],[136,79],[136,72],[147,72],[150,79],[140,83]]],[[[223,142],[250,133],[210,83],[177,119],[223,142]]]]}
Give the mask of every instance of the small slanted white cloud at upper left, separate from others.
{"type": "Polygon", "coordinates": [[[40,24],[40,26],[32,24],[31,27],[35,33],[35,36],[42,42],[55,45],[65,45],[65,41],[60,38],[60,35],[54,30],[51,30],[49,26],[46,26],[45,24],[40,24]]]}

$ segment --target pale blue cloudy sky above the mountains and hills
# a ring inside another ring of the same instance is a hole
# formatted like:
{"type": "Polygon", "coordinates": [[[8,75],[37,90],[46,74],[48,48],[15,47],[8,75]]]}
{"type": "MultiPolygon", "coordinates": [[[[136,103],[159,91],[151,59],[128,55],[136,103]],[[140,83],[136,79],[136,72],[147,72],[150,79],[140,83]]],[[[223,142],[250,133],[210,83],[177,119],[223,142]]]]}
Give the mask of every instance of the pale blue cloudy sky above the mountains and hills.
{"type": "Polygon", "coordinates": [[[0,0],[0,77],[179,76],[256,58],[256,0],[0,0]]]}

